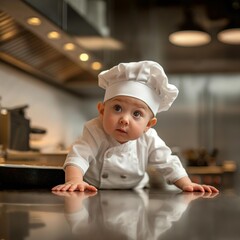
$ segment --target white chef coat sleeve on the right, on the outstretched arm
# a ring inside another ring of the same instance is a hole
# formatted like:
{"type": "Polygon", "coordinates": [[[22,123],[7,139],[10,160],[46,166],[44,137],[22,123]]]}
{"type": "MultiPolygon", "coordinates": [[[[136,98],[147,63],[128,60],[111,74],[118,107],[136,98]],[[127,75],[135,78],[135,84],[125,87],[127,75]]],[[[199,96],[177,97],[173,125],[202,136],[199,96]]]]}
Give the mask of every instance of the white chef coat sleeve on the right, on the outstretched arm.
{"type": "Polygon", "coordinates": [[[147,133],[149,138],[149,165],[158,170],[170,184],[187,176],[178,156],[172,155],[172,151],[158,136],[156,130],[149,129],[147,133]]]}

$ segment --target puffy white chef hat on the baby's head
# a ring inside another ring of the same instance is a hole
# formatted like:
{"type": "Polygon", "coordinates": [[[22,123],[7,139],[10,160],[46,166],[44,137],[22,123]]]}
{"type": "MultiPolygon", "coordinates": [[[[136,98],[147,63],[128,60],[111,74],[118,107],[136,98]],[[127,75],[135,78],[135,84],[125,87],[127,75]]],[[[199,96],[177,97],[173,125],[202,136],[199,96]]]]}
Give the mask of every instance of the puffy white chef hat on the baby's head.
{"type": "Polygon", "coordinates": [[[106,90],[104,102],[115,96],[134,97],[145,102],[154,115],[168,110],[178,95],[163,68],[153,61],[120,63],[101,72],[98,84],[106,90]]]}

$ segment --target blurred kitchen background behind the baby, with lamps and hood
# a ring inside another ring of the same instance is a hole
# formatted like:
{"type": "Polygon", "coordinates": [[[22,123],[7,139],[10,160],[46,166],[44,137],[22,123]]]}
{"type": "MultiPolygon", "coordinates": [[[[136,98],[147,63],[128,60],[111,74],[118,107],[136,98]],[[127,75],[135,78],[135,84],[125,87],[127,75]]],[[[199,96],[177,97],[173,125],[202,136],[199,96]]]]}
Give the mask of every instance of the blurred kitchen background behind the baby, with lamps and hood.
{"type": "Polygon", "coordinates": [[[0,0],[2,152],[67,151],[97,116],[99,72],[153,60],[180,91],[159,135],[196,181],[240,189],[239,32],[240,0],[0,0]],[[203,42],[170,42],[180,27],[203,42]],[[25,147],[16,127],[3,134],[15,115],[28,120],[25,147]]]}

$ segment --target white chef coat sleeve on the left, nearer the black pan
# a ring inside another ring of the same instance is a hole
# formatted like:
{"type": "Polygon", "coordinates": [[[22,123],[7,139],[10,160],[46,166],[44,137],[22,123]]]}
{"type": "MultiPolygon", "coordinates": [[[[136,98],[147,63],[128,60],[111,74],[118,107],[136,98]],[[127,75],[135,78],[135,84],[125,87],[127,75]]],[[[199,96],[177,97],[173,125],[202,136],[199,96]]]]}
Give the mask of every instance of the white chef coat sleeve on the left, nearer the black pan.
{"type": "Polygon", "coordinates": [[[68,165],[74,165],[84,175],[90,163],[96,161],[95,156],[99,148],[97,139],[96,134],[93,135],[87,127],[84,127],[82,136],[72,145],[63,168],[65,169],[68,165]]]}

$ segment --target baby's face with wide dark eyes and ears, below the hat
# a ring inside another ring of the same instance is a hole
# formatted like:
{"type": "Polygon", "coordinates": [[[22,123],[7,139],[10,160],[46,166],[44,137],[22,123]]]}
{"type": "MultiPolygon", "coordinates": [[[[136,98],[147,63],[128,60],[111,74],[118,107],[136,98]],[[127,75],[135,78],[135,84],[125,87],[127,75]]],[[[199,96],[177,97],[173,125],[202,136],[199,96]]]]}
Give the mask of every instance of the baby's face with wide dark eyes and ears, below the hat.
{"type": "Polygon", "coordinates": [[[100,104],[99,112],[105,132],[120,143],[139,138],[156,123],[143,101],[127,96],[117,96],[100,104]]]}

